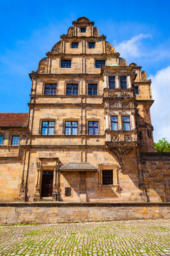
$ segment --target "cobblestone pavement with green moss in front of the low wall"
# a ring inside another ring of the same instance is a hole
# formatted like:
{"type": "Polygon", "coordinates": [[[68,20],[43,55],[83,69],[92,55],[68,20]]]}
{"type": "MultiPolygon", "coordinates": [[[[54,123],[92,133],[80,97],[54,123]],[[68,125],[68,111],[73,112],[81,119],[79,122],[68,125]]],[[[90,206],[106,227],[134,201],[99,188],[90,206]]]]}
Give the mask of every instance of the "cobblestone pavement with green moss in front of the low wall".
{"type": "Polygon", "coordinates": [[[170,220],[0,226],[2,255],[170,255],[170,220]]]}

